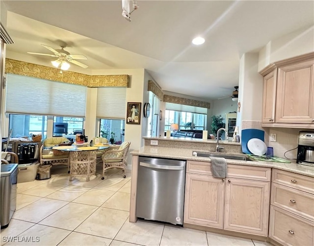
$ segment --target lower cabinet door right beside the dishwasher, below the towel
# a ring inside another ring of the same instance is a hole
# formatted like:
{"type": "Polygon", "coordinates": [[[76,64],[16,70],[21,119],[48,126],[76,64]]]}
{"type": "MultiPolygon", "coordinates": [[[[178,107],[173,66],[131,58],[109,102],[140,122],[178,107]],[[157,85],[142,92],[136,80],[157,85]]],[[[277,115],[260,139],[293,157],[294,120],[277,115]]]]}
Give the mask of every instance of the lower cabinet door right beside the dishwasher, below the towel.
{"type": "Polygon", "coordinates": [[[184,222],[223,228],[224,179],[186,173],[184,222]]]}

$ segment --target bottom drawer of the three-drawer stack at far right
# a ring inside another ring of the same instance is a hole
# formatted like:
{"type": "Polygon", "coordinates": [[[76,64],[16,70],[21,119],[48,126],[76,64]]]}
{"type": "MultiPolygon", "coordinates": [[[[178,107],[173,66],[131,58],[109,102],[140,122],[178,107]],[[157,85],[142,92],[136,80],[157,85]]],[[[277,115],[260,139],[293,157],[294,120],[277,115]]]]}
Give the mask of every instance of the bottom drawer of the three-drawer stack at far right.
{"type": "Polygon", "coordinates": [[[270,206],[269,237],[286,246],[313,246],[314,223],[270,206]]]}

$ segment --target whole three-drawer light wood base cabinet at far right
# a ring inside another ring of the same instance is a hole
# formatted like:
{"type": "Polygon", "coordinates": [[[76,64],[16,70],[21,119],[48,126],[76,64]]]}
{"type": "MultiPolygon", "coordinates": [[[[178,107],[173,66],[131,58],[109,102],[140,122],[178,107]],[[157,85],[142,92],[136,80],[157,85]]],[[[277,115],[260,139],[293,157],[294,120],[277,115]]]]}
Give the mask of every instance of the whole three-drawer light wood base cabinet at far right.
{"type": "Polygon", "coordinates": [[[269,237],[285,246],[314,245],[314,178],[274,169],[269,237]]]}

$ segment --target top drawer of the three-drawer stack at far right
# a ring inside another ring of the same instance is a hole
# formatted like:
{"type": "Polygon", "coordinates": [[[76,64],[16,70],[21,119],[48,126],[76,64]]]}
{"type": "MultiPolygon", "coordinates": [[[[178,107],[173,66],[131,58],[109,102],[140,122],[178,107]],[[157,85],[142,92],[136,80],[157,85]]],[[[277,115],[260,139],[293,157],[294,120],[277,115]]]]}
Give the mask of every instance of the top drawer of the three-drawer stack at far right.
{"type": "Polygon", "coordinates": [[[273,169],[272,181],[278,184],[314,194],[314,178],[282,170],[273,169]]]}

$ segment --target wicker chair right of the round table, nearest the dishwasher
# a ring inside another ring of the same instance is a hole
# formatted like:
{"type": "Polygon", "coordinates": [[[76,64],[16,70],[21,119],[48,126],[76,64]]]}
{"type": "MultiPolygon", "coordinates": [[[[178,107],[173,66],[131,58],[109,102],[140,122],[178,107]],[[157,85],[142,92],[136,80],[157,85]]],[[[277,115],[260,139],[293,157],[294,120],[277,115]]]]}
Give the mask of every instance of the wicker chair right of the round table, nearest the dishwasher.
{"type": "Polygon", "coordinates": [[[102,155],[103,159],[103,176],[105,178],[105,171],[111,168],[120,168],[123,170],[123,177],[125,178],[125,167],[127,164],[128,151],[130,148],[131,142],[123,142],[120,148],[107,150],[102,155]]]}

